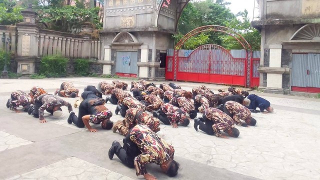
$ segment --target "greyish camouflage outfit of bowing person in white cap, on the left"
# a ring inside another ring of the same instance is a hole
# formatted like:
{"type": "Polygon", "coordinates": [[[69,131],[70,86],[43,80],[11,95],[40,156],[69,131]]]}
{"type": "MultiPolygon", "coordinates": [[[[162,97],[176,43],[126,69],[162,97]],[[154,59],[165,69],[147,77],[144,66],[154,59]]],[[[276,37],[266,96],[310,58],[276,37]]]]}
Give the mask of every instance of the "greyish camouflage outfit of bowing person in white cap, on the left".
{"type": "Polygon", "coordinates": [[[44,110],[53,114],[53,108],[55,106],[60,106],[58,110],[62,110],[61,106],[63,105],[68,107],[69,112],[72,111],[72,105],[60,97],[53,94],[41,94],[34,100],[34,109],[32,110],[32,115],[39,117],[39,120],[43,120],[44,110]]]}

